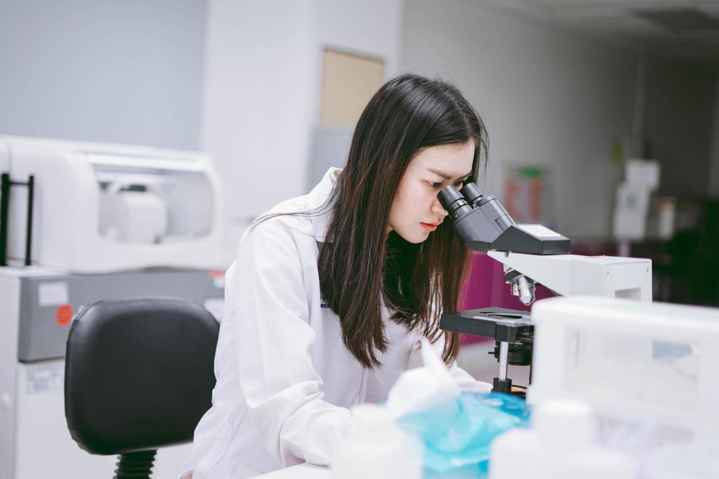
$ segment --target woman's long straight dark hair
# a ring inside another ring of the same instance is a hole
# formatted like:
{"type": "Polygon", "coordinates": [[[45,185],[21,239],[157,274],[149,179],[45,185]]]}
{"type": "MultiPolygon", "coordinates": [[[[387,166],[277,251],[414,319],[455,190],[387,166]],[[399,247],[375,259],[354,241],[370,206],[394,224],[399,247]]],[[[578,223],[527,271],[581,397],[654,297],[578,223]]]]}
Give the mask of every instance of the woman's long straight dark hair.
{"type": "MultiPolygon", "coordinates": [[[[388,338],[382,300],[393,320],[441,338],[439,315],[457,310],[471,252],[441,223],[423,243],[387,234],[390,208],[408,164],[423,148],[473,141],[473,175],[487,166],[487,132],[475,108],[453,85],[405,74],[372,96],[352,136],[344,170],[327,208],[330,220],[319,251],[322,297],[339,316],[342,340],[357,361],[381,366],[388,338]]],[[[453,363],[459,338],[444,332],[443,359],[453,363]]]]}

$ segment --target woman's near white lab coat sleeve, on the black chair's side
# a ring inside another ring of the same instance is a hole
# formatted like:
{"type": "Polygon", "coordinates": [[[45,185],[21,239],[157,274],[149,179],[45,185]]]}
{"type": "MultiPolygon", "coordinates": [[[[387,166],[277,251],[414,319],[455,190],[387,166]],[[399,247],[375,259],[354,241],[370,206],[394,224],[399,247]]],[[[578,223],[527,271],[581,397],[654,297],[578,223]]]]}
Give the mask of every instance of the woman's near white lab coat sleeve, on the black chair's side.
{"type": "Polygon", "coordinates": [[[311,361],[315,332],[303,283],[306,246],[298,246],[285,226],[260,223],[242,238],[228,291],[238,400],[247,403],[257,441],[283,467],[328,465],[332,447],[349,426],[349,411],[323,400],[322,380],[311,361]]]}

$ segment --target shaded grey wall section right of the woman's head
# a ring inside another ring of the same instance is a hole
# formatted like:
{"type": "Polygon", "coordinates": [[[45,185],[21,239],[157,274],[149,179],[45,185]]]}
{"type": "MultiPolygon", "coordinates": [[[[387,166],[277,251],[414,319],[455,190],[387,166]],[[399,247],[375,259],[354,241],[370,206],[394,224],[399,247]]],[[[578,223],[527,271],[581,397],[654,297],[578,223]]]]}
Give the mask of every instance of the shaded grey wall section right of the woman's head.
{"type": "Polygon", "coordinates": [[[638,57],[478,0],[407,0],[402,68],[452,80],[490,134],[486,190],[502,196],[507,164],[551,167],[557,228],[601,236],[632,134],[638,57]]]}

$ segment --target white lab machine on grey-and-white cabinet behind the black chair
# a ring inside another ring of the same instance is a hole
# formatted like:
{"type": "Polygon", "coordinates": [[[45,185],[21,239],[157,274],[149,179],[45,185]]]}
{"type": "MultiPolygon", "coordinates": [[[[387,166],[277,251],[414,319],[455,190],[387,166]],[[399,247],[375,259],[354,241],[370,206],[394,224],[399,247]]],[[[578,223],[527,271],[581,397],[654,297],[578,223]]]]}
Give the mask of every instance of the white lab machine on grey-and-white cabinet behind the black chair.
{"type": "MultiPolygon", "coordinates": [[[[201,153],[0,136],[0,478],[111,477],[65,422],[65,340],[101,299],[192,299],[219,316],[223,197],[201,153]]],[[[160,450],[173,477],[190,445],[160,450]]]]}

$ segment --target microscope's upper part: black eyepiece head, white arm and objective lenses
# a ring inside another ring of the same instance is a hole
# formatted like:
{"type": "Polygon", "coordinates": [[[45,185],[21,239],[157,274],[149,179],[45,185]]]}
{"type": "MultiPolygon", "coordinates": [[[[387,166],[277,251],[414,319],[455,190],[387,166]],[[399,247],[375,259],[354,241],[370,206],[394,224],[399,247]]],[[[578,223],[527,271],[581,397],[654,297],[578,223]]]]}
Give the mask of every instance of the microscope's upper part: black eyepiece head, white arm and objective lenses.
{"type": "Polygon", "coordinates": [[[474,183],[461,192],[448,186],[438,198],[464,246],[504,264],[505,281],[527,306],[536,283],[562,296],[651,301],[648,259],[569,254],[569,238],[543,225],[518,225],[496,197],[485,196],[474,183]]]}

